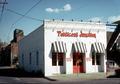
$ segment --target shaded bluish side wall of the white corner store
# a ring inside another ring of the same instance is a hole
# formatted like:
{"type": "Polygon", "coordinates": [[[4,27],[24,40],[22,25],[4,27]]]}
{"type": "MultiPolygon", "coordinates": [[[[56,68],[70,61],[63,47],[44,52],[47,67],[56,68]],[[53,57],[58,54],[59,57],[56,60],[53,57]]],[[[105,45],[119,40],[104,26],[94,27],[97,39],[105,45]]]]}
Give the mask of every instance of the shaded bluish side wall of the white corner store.
{"type": "Polygon", "coordinates": [[[44,72],[44,28],[39,27],[29,35],[25,36],[19,42],[19,62],[20,66],[27,71],[39,71],[44,72]],[[39,52],[38,64],[36,64],[36,52],[39,52]],[[29,56],[31,52],[31,64],[29,63],[29,56]],[[24,54],[24,62],[22,60],[22,54],[24,54]]]}

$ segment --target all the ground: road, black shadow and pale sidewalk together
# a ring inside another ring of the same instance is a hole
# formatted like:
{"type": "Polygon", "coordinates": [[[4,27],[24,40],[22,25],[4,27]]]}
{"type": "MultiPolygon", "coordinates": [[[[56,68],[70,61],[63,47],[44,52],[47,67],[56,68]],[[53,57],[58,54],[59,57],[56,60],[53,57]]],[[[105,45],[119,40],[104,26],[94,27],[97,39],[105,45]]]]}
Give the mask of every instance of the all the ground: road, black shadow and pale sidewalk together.
{"type": "Polygon", "coordinates": [[[39,84],[120,84],[120,78],[105,73],[55,75],[49,77],[26,74],[10,67],[0,67],[0,83],[39,83],[39,84]],[[107,74],[108,75],[108,74],[107,74]],[[108,77],[108,78],[107,78],[108,77]]]}

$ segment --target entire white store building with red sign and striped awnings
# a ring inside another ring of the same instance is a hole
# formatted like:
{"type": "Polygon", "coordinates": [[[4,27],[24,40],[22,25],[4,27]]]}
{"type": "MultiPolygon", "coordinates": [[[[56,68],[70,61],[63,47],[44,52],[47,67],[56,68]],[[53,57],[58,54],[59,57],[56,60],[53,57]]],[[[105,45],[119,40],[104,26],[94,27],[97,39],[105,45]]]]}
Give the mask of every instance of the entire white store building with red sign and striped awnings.
{"type": "Polygon", "coordinates": [[[19,42],[26,71],[54,74],[106,72],[106,24],[45,20],[19,42]]]}

